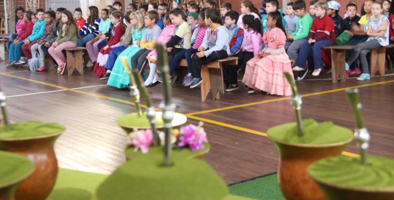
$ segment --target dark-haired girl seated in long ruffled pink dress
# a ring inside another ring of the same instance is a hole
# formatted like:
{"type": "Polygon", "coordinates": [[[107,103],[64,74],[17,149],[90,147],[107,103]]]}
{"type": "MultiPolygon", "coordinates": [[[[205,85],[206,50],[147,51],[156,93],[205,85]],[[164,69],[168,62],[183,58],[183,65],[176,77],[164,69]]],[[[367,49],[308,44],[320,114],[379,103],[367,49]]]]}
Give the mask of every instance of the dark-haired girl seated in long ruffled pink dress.
{"type": "Polygon", "coordinates": [[[269,29],[263,34],[265,47],[259,56],[246,63],[242,83],[249,87],[249,94],[261,90],[269,94],[289,96],[292,90],[283,72],[289,72],[293,76],[293,71],[285,52],[286,33],[279,11],[268,13],[267,27],[269,29]]]}

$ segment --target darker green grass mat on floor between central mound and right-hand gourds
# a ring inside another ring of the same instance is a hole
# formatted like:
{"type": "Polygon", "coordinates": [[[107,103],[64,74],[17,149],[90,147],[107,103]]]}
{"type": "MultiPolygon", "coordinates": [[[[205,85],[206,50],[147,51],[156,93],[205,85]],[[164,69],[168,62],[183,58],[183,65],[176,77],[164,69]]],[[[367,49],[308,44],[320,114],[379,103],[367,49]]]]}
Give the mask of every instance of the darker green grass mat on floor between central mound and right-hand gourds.
{"type": "Polygon", "coordinates": [[[257,200],[285,200],[278,185],[276,172],[230,184],[229,189],[231,195],[257,200]]]}

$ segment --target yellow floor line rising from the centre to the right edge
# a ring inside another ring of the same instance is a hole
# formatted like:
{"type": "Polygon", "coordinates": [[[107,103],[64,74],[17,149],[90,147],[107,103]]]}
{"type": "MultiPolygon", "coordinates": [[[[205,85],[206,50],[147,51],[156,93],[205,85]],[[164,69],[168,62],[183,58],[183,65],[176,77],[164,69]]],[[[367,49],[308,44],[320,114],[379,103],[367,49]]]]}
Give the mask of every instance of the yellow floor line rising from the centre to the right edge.
{"type": "MultiPolygon", "coordinates": [[[[328,93],[332,93],[332,92],[345,91],[348,88],[361,88],[361,87],[368,87],[368,86],[378,86],[378,85],[390,84],[390,83],[394,83],[394,80],[382,81],[382,82],[377,82],[377,83],[372,83],[372,84],[365,84],[365,85],[361,85],[361,86],[341,87],[341,88],[330,89],[330,90],[321,91],[321,92],[313,92],[313,93],[309,93],[309,94],[303,94],[301,96],[302,97],[315,96],[315,95],[321,95],[321,94],[328,94],[328,93]]],[[[213,112],[218,112],[218,111],[225,111],[225,110],[242,108],[242,107],[248,107],[248,106],[254,106],[254,105],[260,105],[260,104],[265,104],[265,103],[270,103],[270,102],[275,102],[275,101],[283,101],[283,100],[288,100],[288,99],[290,99],[290,98],[289,97],[282,97],[282,98],[276,98],[276,99],[257,101],[257,102],[246,103],[246,104],[239,104],[239,105],[234,105],[234,106],[228,106],[228,107],[223,107],[223,108],[211,109],[211,110],[206,110],[206,111],[198,111],[198,112],[193,112],[193,113],[188,113],[188,114],[189,115],[196,115],[196,114],[213,113],[213,112]]]]}

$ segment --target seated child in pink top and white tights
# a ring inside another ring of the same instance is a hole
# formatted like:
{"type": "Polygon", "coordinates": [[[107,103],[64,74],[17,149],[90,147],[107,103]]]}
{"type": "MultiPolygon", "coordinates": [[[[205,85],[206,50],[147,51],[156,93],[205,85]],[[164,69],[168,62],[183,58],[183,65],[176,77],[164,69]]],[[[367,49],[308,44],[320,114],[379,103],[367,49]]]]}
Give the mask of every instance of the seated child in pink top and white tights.
{"type": "MultiPolygon", "coordinates": [[[[158,44],[163,44],[165,45],[170,39],[171,36],[174,34],[176,26],[171,23],[171,20],[169,19],[169,12],[166,12],[164,15],[164,29],[162,33],[160,33],[159,38],[157,38],[157,43],[158,44]]],[[[149,76],[146,79],[144,85],[145,86],[155,86],[158,84],[158,75],[156,73],[156,67],[157,67],[157,52],[156,49],[151,51],[148,56],[146,57],[149,62],[149,76]]]]}

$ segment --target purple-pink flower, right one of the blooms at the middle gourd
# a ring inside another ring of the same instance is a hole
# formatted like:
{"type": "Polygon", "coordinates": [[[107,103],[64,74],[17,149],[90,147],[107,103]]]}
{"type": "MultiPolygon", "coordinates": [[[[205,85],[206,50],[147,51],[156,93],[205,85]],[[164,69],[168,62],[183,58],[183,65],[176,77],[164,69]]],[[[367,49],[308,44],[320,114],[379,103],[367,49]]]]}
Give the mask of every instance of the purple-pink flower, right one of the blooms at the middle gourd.
{"type": "Polygon", "coordinates": [[[192,151],[203,149],[203,143],[207,143],[206,133],[201,126],[189,124],[181,127],[181,136],[178,146],[189,146],[192,151]]]}

